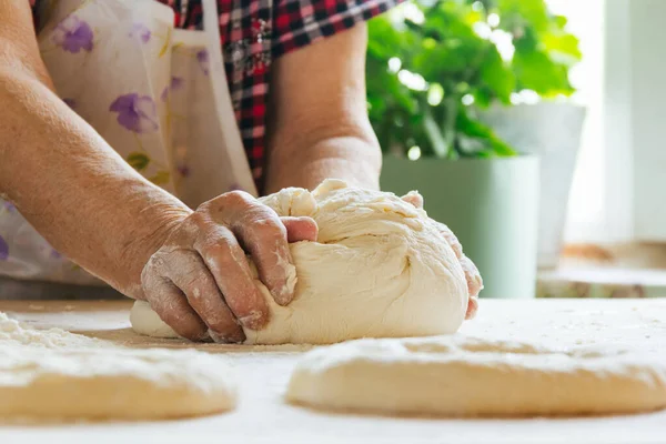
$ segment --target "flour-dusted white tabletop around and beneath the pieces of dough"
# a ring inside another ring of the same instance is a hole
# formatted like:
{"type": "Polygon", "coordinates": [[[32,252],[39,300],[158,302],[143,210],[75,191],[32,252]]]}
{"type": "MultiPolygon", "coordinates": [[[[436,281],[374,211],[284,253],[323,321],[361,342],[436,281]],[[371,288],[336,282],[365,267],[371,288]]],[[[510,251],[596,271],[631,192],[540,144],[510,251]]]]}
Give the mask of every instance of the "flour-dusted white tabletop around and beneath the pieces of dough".
{"type": "MultiPolygon", "coordinates": [[[[0,301],[0,311],[36,326],[61,326],[129,346],[190,346],[128,330],[127,302],[0,301]]],[[[666,350],[666,300],[482,300],[461,334],[546,344],[620,343],[666,350]]],[[[435,420],[331,415],[282,401],[296,346],[206,344],[242,376],[234,412],[153,423],[0,425],[4,443],[666,443],[666,412],[532,420],[435,420]]],[[[75,402],[75,400],[72,400],[75,402]]]]}

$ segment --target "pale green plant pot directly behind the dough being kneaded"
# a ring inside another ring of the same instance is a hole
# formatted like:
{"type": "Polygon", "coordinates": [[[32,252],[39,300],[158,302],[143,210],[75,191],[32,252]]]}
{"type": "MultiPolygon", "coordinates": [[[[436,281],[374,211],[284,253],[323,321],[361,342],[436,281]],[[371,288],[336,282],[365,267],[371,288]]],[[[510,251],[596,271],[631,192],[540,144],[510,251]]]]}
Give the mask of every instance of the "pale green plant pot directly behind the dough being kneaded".
{"type": "Polygon", "coordinates": [[[381,185],[417,190],[428,215],[448,225],[478,266],[482,297],[534,297],[538,225],[538,159],[410,161],[384,157],[381,185]]]}

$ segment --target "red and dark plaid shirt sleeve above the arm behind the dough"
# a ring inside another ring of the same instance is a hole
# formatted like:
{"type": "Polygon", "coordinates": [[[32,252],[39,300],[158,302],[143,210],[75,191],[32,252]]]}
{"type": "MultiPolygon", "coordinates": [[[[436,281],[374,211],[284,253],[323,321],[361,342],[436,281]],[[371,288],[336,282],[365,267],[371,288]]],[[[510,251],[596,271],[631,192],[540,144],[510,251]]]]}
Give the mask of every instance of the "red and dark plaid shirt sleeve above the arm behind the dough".
{"type": "Polygon", "coordinates": [[[403,0],[275,0],[272,56],[278,58],[372,19],[403,0]]]}

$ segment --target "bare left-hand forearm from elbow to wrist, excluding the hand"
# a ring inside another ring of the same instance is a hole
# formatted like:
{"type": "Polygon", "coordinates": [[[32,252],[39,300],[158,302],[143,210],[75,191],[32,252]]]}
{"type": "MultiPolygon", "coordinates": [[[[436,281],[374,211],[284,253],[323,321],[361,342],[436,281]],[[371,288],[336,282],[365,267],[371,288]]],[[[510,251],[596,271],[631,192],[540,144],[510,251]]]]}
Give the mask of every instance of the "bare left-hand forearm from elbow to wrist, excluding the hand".
{"type": "Polygon", "coordinates": [[[57,250],[133,296],[151,245],[190,213],[20,71],[0,71],[0,194],[57,250]]]}

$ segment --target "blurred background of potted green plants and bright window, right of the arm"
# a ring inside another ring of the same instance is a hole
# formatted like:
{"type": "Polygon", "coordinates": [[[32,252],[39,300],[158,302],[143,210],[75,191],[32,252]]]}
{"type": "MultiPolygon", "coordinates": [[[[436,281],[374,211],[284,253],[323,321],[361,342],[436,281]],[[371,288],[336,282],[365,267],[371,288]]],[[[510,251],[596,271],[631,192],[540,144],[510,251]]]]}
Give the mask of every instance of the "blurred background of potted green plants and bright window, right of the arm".
{"type": "Polygon", "coordinates": [[[415,0],[370,22],[382,186],[486,297],[666,296],[662,0],[415,0]]]}

